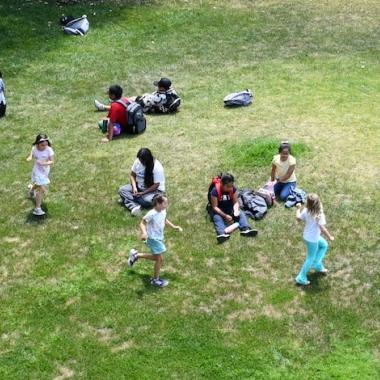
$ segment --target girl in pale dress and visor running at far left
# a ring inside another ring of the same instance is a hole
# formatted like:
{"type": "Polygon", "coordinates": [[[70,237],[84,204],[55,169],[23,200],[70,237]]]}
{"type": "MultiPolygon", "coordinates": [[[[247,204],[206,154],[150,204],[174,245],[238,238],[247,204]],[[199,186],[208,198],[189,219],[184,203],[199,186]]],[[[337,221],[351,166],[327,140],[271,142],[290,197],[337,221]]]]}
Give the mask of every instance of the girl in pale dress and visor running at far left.
{"type": "Polygon", "coordinates": [[[36,201],[36,206],[33,210],[33,214],[42,216],[45,214],[45,211],[43,211],[41,208],[42,198],[46,192],[46,186],[50,183],[50,166],[54,163],[54,151],[51,148],[47,135],[37,135],[36,141],[33,143],[32,151],[26,160],[34,160],[32,181],[28,186],[30,197],[35,198],[36,201]]]}

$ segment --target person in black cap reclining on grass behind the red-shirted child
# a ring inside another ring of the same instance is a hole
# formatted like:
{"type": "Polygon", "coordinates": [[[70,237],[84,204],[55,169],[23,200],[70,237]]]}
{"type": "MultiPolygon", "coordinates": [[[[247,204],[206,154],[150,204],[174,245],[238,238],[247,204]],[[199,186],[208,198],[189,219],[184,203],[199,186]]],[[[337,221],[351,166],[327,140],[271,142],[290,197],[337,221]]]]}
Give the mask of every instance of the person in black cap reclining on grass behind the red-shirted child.
{"type": "MultiPolygon", "coordinates": [[[[129,98],[134,100],[143,107],[144,113],[173,113],[177,111],[181,104],[181,99],[177,95],[174,88],[171,87],[172,82],[168,78],[161,78],[159,81],[153,82],[157,87],[156,91],[151,94],[144,94],[129,98]]],[[[98,111],[109,111],[110,105],[105,105],[98,100],[94,100],[95,108],[98,111]]]]}

